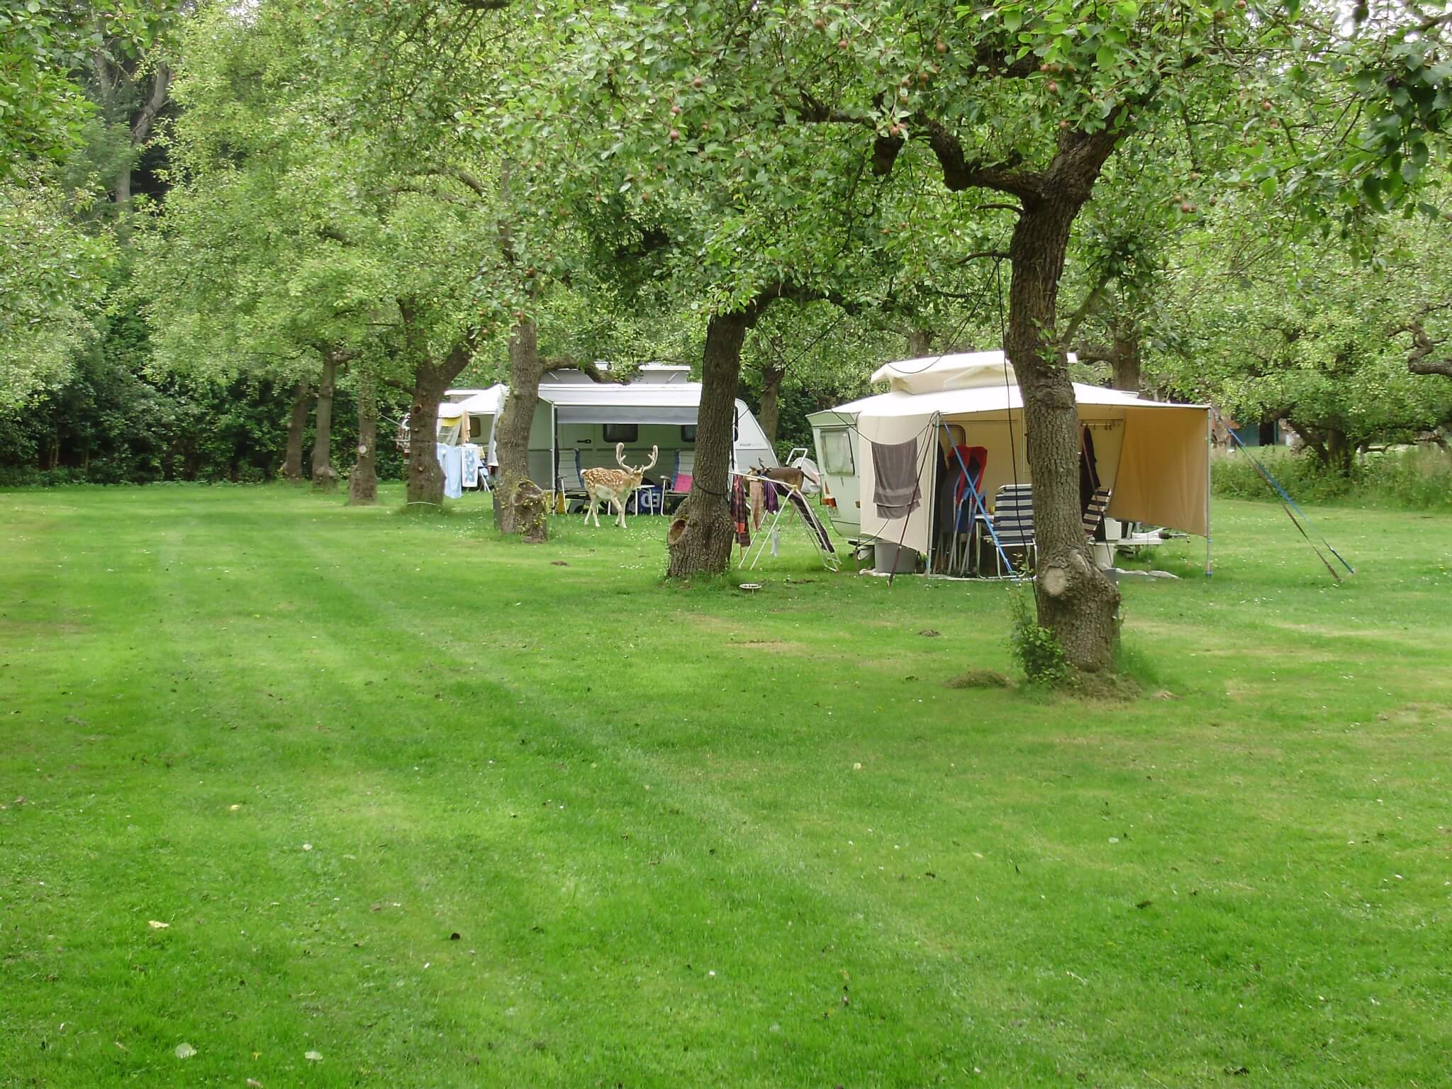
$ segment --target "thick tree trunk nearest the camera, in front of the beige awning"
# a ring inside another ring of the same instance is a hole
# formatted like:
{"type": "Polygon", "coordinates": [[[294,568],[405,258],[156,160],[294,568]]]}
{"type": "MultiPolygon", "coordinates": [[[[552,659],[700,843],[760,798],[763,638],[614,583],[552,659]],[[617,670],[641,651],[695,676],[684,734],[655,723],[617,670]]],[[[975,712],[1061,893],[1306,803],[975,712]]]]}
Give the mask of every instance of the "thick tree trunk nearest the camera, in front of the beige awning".
{"type": "Polygon", "coordinates": [[[1077,193],[1050,192],[1028,203],[1013,229],[1005,348],[1024,396],[1024,436],[1034,476],[1038,623],[1069,662],[1104,669],[1114,653],[1119,591],[1090,558],[1079,510],[1079,414],[1069,360],[1054,335],[1054,311],[1077,193]]]}

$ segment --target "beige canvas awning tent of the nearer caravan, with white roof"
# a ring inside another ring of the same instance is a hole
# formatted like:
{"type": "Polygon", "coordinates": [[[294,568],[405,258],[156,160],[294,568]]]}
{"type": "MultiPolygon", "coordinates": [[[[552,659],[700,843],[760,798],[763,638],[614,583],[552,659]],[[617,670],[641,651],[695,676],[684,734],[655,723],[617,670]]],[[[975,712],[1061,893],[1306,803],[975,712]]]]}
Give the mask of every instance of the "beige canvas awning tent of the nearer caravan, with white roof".
{"type": "MultiPolygon", "coordinates": [[[[873,375],[889,391],[833,409],[857,417],[862,534],[928,550],[929,518],[944,425],[987,449],[983,492],[992,504],[1005,484],[1029,484],[1018,382],[1002,351],[890,363],[873,375]],[[873,443],[916,440],[922,501],[906,518],[883,517],[873,501],[873,443]]],[[[1108,514],[1121,521],[1210,533],[1210,409],[1146,401],[1134,393],[1074,383],[1079,421],[1089,430],[1108,514]]],[[[955,436],[957,437],[957,436],[955,436]]]]}

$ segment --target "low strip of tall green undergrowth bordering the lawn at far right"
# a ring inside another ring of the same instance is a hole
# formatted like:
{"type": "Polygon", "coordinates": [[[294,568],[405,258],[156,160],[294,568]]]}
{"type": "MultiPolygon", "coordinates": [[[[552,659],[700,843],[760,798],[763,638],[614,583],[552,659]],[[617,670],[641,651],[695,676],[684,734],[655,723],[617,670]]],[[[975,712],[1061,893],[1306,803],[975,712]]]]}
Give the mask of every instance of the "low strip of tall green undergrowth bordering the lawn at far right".
{"type": "MultiPolygon", "coordinates": [[[[1308,450],[1256,447],[1250,453],[1297,502],[1355,502],[1419,511],[1452,508],[1452,457],[1437,449],[1361,454],[1347,476],[1323,468],[1308,450]]],[[[1224,498],[1279,498],[1241,450],[1217,453],[1210,463],[1210,478],[1214,494],[1224,498]]]]}

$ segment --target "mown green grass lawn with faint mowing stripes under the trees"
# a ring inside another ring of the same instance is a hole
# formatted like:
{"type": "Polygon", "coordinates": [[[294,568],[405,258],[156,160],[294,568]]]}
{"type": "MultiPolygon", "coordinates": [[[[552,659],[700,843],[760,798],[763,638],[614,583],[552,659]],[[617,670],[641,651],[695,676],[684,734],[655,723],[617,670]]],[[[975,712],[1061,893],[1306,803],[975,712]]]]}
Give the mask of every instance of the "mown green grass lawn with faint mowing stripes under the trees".
{"type": "Polygon", "coordinates": [[[1448,1083],[1452,517],[1218,504],[1112,704],[947,687],[1002,584],[385,502],[0,494],[0,1083],[1448,1083]]]}

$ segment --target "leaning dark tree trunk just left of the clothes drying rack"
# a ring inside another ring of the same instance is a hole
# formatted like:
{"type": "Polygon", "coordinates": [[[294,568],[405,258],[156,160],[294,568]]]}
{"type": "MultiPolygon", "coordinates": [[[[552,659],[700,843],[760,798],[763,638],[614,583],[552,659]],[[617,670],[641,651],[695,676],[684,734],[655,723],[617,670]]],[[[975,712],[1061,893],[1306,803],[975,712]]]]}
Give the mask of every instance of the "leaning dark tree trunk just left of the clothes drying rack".
{"type": "Polygon", "coordinates": [[[736,382],[741,348],[754,312],[719,314],[706,327],[701,407],[696,418],[696,476],[681,508],[684,531],[671,542],[666,578],[720,574],[730,563],[735,540],[726,494],[736,428],[736,382]]]}

